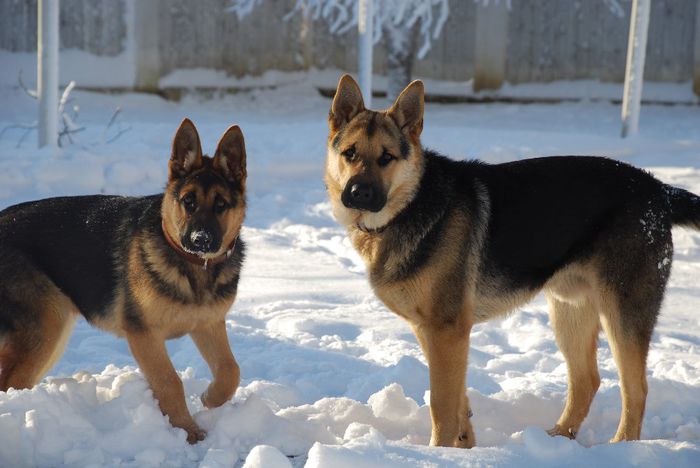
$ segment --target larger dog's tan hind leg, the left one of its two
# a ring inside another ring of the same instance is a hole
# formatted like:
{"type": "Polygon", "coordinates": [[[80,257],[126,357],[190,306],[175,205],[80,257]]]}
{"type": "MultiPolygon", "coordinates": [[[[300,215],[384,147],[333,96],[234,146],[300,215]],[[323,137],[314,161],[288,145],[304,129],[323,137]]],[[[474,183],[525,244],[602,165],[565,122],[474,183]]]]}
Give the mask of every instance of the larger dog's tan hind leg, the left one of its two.
{"type": "Polygon", "coordinates": [[[600,386],[596,360],[600,318],[589,302],[572,305],[549,295],[547,299],[557,344],[569,371],[566,406],[556,425],[548,432],[552,436],[563,435],[573,439],[588,415],[600,386]]]}

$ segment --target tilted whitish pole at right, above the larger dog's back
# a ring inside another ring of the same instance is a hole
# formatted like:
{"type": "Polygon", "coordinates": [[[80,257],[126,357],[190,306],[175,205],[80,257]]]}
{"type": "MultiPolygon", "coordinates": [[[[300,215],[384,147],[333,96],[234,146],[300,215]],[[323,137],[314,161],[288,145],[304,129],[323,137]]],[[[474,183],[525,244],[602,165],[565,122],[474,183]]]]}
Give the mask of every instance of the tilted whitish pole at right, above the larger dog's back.
{"type": "Polygon", "coordinates": [[[651,0],[634,0],[630,18],[630,36],[627,44],[627,68],[622,98],[622,138],[639,130],[639,110],[644,83],[644,59],[649,32],[651,0]]]}

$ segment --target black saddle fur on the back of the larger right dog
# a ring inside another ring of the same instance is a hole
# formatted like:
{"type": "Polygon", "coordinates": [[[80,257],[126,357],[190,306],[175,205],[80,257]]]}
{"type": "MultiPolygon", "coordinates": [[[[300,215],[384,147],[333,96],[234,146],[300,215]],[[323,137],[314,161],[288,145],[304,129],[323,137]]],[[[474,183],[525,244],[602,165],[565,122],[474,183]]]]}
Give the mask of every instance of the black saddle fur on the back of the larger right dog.
{"type": "Polygon", "coordinates": [[[649,208],[668,211],[663,184],[606,158],[538,158],[478,169],[491,208],[485,264],[515,287],[540,287],[590,255],[614,220],[642,219],[649,208]]]}

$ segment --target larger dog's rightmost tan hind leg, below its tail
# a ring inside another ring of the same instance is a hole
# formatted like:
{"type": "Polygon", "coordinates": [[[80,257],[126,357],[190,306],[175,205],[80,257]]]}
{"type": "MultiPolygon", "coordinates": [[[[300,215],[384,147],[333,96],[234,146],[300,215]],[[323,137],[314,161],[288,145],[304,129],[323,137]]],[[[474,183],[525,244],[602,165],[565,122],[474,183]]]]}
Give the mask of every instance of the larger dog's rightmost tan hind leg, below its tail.
{"type": "Polygon", "coordinates": [[[619,310],[615,307],[608,308],[602,322],[620,375],[622,396],[620,425],[610,442],[638,440],[647,397],[646,358],[649,343],[630,330],[623,329],[619,310]]]}

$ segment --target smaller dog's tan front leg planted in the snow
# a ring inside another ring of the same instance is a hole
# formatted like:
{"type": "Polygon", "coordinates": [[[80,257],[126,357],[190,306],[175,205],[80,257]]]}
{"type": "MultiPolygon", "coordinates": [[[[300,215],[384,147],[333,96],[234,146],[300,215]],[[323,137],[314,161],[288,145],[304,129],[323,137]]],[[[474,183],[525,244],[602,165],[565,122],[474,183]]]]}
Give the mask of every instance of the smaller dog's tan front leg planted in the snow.
{"type": "Polygon", "coordinates": [[[170,424],[187,431],[187,441],[191,444],[204,439],[206,433],[187,410],[182,381],[168,357],[165,340],[148,331],[129,332],[127,340],[161,411],[170,418],[170,424]]]}

